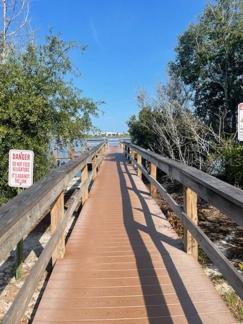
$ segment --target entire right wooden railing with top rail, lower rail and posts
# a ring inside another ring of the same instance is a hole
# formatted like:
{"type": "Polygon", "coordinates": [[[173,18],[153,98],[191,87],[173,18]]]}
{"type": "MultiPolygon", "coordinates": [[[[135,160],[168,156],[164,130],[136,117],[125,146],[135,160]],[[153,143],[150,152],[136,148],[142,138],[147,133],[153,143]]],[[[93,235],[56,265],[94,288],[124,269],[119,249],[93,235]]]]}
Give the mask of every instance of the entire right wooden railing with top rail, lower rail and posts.
{"type": "MultiPolygon", "coordinates": [[[[197,258],[198,246],[243,299],[243,276],[216,247],[209,237],[197,226],[197,195],[205,199],[238,225],[243,225],[243,191],[193,167],[146,150],[126,141],[120,141],[126,156],[150,182],[150,193],[156,190],[164,197],[171,209],[184,225],[184,247],[188,254],[197,258]],[[137,160],[135,159],[137,153],[137,160]],[[142,158],[150,163],[150,174],[142,166],[142,158]],[[156,169],[160,169],[183,185],[184,210],[156,180],[156,169]]],[[[216,224],[217,226],[217,224],[216,224]]]]}

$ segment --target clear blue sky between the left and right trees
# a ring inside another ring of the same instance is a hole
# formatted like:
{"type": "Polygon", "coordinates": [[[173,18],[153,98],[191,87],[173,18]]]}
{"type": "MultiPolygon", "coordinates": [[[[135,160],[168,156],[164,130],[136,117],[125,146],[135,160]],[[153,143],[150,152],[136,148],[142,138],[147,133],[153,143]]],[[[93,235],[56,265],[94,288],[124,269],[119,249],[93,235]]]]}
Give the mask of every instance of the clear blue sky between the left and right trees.
{"type": "Polygon", "coordinates": [[[52,27],[66,41],[88,45],[84,55],[71,54],[84,76],[75,85],[84,96],[106,102],[95,126],[123,132],[138,112],[137,90],[151,93],[165,80],[177,36],[205,5],[205,0],[33,0],[31,18],[40,38],[52,27]]]}

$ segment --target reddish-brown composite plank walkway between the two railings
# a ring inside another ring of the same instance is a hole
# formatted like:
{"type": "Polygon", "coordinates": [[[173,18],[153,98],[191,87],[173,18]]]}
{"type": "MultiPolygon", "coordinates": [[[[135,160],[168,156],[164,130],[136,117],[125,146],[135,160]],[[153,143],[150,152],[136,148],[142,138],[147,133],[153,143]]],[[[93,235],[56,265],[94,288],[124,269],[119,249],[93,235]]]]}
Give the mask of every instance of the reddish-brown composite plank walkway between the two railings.
{"type": "Polygon", "coordinates": [[[118,148],[107,151],[34,324],[233,324],[118,148]]]}

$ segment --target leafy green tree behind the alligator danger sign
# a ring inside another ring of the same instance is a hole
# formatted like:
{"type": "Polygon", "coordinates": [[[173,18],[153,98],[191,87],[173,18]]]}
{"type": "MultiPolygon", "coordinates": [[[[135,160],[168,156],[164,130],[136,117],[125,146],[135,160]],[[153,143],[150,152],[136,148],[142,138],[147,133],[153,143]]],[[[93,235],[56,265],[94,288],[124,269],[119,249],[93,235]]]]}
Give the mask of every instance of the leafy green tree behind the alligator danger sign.
{"type": "Polygon", "coordinates": [[[8,153],[12,148],[34,151],[34,181],[53,167],[50,143],[75,144],[92,131],[91,115],[100,102],[82,97],[70,74],[78,75],[69,51],[85,46],[65,43],[50,34],[44,45],[29,43],[0,65],[0,204],[13,197],[8,187],[8,153]]]}

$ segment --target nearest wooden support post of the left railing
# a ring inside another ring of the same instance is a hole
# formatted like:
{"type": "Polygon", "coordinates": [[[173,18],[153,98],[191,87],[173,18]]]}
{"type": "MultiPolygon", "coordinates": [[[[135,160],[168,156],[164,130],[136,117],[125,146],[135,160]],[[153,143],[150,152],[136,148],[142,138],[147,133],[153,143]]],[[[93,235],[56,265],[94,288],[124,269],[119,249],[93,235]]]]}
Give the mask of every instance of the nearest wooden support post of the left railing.
{"type": "MultiPolygon", "coordinates": [[[[64,215],[64,191],[60,193],[51,210],[51,232],[53,233],[64,215]]],[[[62,233],[56,249],[52,255],[52,265],[57,259],[62,259],[65,254],[65,235],[62,233]]]]}

